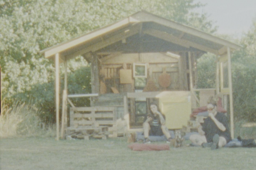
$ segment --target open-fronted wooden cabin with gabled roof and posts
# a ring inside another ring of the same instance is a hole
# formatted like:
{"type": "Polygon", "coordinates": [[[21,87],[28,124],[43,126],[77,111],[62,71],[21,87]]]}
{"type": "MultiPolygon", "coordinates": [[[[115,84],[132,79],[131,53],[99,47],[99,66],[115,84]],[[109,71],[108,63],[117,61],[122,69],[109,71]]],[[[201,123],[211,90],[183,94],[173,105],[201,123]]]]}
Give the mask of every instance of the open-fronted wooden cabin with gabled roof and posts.
{"type": "MultiPolygon", "coordinates": [[[[229,101],[234,137],[231,52],[238,48],[238,44],[144,11],[47,48],[42,51],[45,57],[55,58],[57,138],[59,94],[62,94],[59,64],[64,63],[67,69],[67,61],[79,55],[91,63],[92,94],[68,94],[65,73],[63,92],[67,97],[62,102],[71,105],[70,126],[75,126],[74,112],[99,111],[100,116],[92,116],[90,120],[96,121],[104,116],[103,112],[108,112],[107,118],[112,118],[111,114],[115,117],[112,124],[127,120],[128,129],[140,128],[149,113],[149,103],[156,101],[167,116],[167,127],[180,129],[189,120],[191,109],[206,104],[209,95],[218,95],[223,97],[224,105],[229,101]],[[213,63],[217,66],[216,88],[196,89],[200,78],[197,59],[206,52],[216,55],[213,63]],[[70,97],[91,97],[91,107],[76,108],[70,97]]],[[[66,111],[63,107],[64,115],[66,111]]],[[[65,122],[65,116],[62,118],[65,122]]],[[[88,121],[83,123],[92,125],[88,121]]]]}

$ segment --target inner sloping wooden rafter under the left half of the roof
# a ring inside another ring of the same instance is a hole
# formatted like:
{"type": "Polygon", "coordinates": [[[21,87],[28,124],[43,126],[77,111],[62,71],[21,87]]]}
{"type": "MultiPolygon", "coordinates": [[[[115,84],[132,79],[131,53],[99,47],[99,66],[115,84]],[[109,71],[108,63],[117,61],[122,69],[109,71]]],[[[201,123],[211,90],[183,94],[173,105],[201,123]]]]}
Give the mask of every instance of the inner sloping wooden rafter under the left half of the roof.
{"type": "Polygon", "coordinates": [[[94,51],[100,50],[101,48],[110,46],[111,44],[114,44],[117,41],[121,41],[122,39],[125,39],[127,37],[133,36],[136,33],[138,33],[139,32],[139,26],[140,26],[140,24],[137,24],[133,27],[127,28],[127,32],[118,33],[114,36],[111,36],[108,39],[105,39],[104,41],[100,41],[99,43],[93,44],[92,46],[89,46],[89,47],[86,47],[86,48],[84,48],[80,51],[74,52],[73,54],[67,55],[66,57],[68,59],[71,59],[71,58],[74,58],[78,55],[85,54],[89,51],[94,52],[94,51]]]}

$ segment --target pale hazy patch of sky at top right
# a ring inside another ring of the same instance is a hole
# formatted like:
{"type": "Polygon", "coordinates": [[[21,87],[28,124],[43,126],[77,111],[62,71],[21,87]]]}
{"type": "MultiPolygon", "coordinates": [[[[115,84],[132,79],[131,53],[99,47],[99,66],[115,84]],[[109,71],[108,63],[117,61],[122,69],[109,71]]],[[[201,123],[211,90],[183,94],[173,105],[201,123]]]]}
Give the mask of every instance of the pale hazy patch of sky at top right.
{"type": "Polygon", "coordinates": [[[218,26],[217,33],[241,36],[256,20],[256,0],[195,0],[207,3],[196,12],[206,12],[218,26]]]}

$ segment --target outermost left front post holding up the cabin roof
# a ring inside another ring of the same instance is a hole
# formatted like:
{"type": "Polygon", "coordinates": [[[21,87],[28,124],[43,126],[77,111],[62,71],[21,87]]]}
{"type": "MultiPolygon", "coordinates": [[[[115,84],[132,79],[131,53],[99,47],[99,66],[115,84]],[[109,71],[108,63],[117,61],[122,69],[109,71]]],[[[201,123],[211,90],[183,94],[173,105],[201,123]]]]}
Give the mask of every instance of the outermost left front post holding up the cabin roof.
{"type": "Polygon", "coordinates": [[[59,140],[59,54],[55,54],[55,97],[56,97],[56,126],[57,141],[59,140]]]}

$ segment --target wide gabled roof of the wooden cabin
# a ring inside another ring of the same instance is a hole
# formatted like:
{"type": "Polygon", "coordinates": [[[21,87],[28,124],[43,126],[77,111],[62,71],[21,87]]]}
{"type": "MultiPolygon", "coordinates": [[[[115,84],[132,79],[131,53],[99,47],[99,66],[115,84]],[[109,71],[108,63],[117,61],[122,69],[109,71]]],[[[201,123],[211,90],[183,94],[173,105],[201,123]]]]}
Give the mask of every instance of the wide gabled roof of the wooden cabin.
{"type": "Polygon", "coordinates": [[[70,59],[90,51],[95,52],[136,34],[153,36],[184,48],[195,48],[217,55],[225,54],[227,47],[231,51],[240,48],[238,44],[209,33],[141,11],[41,52],[46,58],[59,53],[62,59],[70,59]]]}

